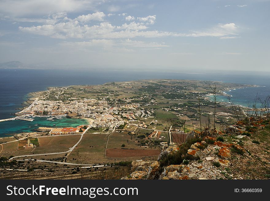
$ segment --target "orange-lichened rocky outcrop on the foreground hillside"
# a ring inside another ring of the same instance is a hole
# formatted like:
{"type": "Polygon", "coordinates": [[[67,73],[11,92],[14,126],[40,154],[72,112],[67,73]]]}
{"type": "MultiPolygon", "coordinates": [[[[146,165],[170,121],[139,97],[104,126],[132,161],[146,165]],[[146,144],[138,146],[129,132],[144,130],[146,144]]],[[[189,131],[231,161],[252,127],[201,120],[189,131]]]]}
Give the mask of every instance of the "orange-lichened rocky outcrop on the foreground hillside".
{"type": "MultiPolygon", "coordinates": [[[[228,129],[234,132],[238,131],[237,129],[232,130],[233,128],[236,127],[230,126],[228,129]]],[[[198,137],[197,134],[197,132],[191,132],[189,133],[188,137],[198,137]]],[[[179,151],[179,147],[177,145],[164,145],[157,161],[133,161],[132,169],[134,172],[131,173],[129,177],[125,177],[123,179],[231,178],[232,175],[230,175],[230,166],[232,154],[249,156],[248,151],[237,144],[237,140],[233,143],[226,143],[225,141],[223,142],[223,140],[221,140],[222,142],[217,141],[216,137],[205,136],[203,141],[191,144],[186,155],[179,158],[181,161],[183,160],[183,157],[185,158],[181,164],[180,161],[177,165],[160,167],[162,160],[164,160],[168,155],[179,151]],[[222,171],[221,168],[223,168],[222,171]]]]}

